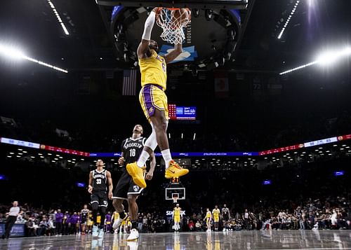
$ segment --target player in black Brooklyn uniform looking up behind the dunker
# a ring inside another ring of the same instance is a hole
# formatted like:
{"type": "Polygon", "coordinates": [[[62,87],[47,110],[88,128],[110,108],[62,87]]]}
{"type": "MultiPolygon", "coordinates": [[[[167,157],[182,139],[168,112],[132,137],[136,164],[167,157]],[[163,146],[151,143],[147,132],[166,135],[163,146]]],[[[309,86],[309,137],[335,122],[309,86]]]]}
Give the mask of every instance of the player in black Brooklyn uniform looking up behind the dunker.
{"type": "MultiPolygon", "coordinates": [[[[113,206],[114,209],[119,213],[119,218],[114,221],[113,228],[116,229],[121,225],[121,221],[126,219],[124,214],[123,201],[128,201],[128,211],[129,217],[132,223],[131,235],[128,236],[127,240],[138,239],[138,205],[136,204],[136,199],[138,195],[143,191],[143,188],[140,188],[133,182],[132,177],[126,171],[126,165],[131,162],[138,160],[140,153],[143,151],[144,143],[146,138],[142,137],[143,127],[141,125],[135,125],[133,128],[132,137],[125,139],[122,142],[121,148],[121,158],[119,158],[119,165],[124,166],[124,172],[119,179],[116,188],[114,189],[113,194],[113,206]]],[[[150,156],[150,170],[147,172],[145,179],[151,180],[154,173],[154,167],[156,165],[156,159],[154,158],[154,153],[150,156]]]]}

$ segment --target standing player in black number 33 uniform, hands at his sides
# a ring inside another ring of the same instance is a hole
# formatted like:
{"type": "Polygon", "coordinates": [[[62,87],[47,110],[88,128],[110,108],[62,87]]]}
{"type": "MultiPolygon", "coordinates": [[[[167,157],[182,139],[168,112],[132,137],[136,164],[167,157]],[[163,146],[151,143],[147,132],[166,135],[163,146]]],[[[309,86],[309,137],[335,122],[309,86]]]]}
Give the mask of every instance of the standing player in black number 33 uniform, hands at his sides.
{"type": "Polygon", "coordinates": [[[104,169],[105,163],[102,160],[96,162],[96,169],[89,174],[88,192],[91,193],[91,207],[93,209],[93,236],[104,235],[104,221],[107,208],[107,183],[109,186],[108,198],[112,199],[112,178],[111,173],[104,169]],[[98,210],[100,208],[100,228],[96,223],[98,210]],[[100,231],[100,232],[98,232],[100,231]]]}

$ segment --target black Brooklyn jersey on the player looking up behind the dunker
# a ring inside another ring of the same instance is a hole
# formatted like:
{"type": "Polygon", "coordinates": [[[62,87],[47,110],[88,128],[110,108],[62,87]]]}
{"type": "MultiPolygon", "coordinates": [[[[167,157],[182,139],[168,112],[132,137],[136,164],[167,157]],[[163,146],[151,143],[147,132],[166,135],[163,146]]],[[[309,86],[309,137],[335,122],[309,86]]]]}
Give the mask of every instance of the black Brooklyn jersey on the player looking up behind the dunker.
{"type": "Polygon", "coordinates": [[[143,151],[145,144],[145,137],[137,139],[128,138],[122,142],[122,152],[124,153],[125,165],[136,162],[143,151]]]}

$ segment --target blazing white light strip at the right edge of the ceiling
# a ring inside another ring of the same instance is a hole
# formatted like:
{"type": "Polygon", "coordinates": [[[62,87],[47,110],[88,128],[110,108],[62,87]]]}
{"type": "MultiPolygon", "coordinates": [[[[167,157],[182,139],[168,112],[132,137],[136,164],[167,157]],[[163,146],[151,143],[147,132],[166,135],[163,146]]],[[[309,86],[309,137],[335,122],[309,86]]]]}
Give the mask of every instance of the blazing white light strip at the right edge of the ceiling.
{"type": "Polygon", "coordinates": [[[317,57],[317,60],[307,63],[307,64],[303,64],[299,67],[293,68],[293,69],[289,69],[286,71],[283,71],[282,73],[279,73],[279,75],[284,75],[284,74],[288,74],[290,72],[296,71],[298,69],[303,69],[305,67],[309,67],[311,65],[314,64],[321,64],[321,65],[326,65],[326,64],[331,64],[333,62],[336,62],[337,60],[339,60],[342,57],[349,57],[351,55],[351,47],[346,47],[343,50],[331,50],[331,51],[326,51],[325,53],[322,53],[321,55],[319,55],[317,57]]]}

